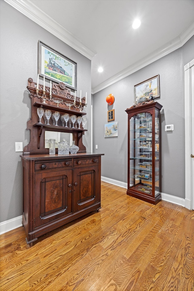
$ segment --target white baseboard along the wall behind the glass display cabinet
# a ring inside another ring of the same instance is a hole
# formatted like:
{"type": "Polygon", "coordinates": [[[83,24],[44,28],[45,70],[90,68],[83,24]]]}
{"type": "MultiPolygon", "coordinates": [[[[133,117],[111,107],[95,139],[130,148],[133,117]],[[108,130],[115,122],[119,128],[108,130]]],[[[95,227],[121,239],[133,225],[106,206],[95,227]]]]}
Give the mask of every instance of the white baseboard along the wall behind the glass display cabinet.
{"type": "MultiPolygon", "coordinates": [[[[102,176],[101,176],[101,181],[127,189],[127,183],[124,183],[124,182],[120,182],[120,181],[113,180],[113,179],[106,178],[106,177],[102,177],[102,176]]],[[[179,197],[172,196],[172,195],[165,194],[165,193],[161,193],[161,198],[164,201],[171,202],[171,203],[185,207],[185,199],[183,199],[183,198],[179,198],[179,197]]]]}

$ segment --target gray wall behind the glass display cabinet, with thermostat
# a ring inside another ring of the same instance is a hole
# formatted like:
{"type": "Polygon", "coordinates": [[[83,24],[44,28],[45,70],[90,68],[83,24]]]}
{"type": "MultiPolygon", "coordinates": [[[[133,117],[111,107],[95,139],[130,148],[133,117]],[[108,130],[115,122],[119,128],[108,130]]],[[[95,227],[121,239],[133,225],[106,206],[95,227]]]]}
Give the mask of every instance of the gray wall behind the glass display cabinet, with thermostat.
{"type": "Polygon", "coordinates": [[[127,183],[127,113],[133,105],[134,85],[160,75],[161,105],[161,192],[185,198],[185,112],[184,65],[194,58],[194,36],[180,49],[162,57],[145,68],[125,77],[93,95],[93,151],[102,156],[102,176],[127,183]],[[113,94],[109,106],[106,96],[113,94]],[[104,137],[107,111],[115,109],[118,137],[104,137]],[[174,124],[173,132],[165,125],[174,124]],[[95,149],[98,145],[98,150],[95,149]]]}

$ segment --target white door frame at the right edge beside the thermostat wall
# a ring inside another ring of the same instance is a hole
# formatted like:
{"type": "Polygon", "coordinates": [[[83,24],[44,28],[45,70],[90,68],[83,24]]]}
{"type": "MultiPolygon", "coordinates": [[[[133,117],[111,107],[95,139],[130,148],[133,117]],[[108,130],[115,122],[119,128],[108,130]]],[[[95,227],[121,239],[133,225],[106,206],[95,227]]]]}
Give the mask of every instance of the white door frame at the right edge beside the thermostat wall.
{"type": "Polygon", "coordinates": [[[193,65],[194,65],[194,59],[184,66],[184,71],[185,71],[185,207],[187,209],[192,209],[191,67],[193,65]]]}

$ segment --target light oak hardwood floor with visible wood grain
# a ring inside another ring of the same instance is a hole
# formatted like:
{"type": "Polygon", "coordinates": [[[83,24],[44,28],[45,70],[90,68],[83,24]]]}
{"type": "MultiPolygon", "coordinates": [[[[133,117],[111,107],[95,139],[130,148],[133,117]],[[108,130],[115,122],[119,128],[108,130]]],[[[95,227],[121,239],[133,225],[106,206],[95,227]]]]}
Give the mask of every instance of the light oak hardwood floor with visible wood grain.
{"type": "Polygon", "coordinates": [[[102,182],[102,208],[32,247],[0,236],[1,291],[193,291],[194,211],[102,182]]]}

